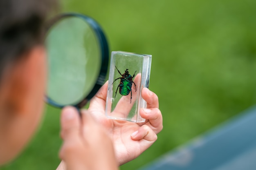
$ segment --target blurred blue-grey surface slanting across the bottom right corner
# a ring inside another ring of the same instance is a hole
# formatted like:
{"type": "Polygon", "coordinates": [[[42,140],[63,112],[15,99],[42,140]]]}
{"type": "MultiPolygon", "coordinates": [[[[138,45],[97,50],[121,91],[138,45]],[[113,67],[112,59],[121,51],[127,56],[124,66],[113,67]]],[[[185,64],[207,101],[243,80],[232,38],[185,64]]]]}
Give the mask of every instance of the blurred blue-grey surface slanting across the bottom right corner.
{"type": "Polygon", "coordinates": [[[140,170],[256,170],[256,107],[140,170]]]}

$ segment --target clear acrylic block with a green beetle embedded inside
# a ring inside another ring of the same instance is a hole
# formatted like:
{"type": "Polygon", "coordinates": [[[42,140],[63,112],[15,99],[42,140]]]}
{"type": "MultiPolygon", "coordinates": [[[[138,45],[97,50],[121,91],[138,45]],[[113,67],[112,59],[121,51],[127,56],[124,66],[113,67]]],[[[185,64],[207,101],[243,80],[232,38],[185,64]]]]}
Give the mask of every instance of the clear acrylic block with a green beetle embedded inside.
{"type": "Polygon", "coordinates": [[[148,88],[152,55],[113,51],[110,60],[106,116],[144,122],[139,110],[146,108],[141,90],[148,88]],[[136,85],[136,86],[135,86],[136,85]]]}

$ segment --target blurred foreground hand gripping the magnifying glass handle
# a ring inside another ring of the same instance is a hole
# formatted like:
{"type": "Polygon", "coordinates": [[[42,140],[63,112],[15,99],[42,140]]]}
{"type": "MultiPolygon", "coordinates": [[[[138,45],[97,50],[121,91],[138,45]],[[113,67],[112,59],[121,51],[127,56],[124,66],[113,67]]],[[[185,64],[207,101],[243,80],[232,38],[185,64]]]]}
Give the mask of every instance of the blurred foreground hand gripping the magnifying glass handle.
{"type": "Polygon", "coordinates": [[[61,114],[63,159],[58,169],[117,170],[117,161],[110,137],[85,110],[82,119],[76,108],[66,107],[61,114]]]}

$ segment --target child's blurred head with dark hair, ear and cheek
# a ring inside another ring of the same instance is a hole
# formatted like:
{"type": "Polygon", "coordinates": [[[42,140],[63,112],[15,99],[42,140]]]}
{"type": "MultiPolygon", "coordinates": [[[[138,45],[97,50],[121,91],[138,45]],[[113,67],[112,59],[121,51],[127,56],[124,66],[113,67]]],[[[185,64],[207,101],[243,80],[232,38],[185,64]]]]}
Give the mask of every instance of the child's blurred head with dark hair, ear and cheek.
{"type": "Polygon", "coordinates": [[[13,159],[43,111],[44,24],[54,0],[0,0],[0,165],[13,159]]]}

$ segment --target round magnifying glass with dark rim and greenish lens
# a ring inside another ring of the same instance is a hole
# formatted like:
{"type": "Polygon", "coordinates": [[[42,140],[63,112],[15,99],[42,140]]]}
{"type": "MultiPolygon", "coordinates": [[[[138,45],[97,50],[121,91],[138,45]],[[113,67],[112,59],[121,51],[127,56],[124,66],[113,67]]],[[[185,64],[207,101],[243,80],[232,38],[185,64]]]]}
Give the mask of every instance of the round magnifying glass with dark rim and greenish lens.
{"type": "Polygon", "coordinates": [[[103,85],[108,70],[108,43],[101,27],[82,14],[59,15],[49,24],[45,43],[47,103],[82,108],[103,85]]]}

